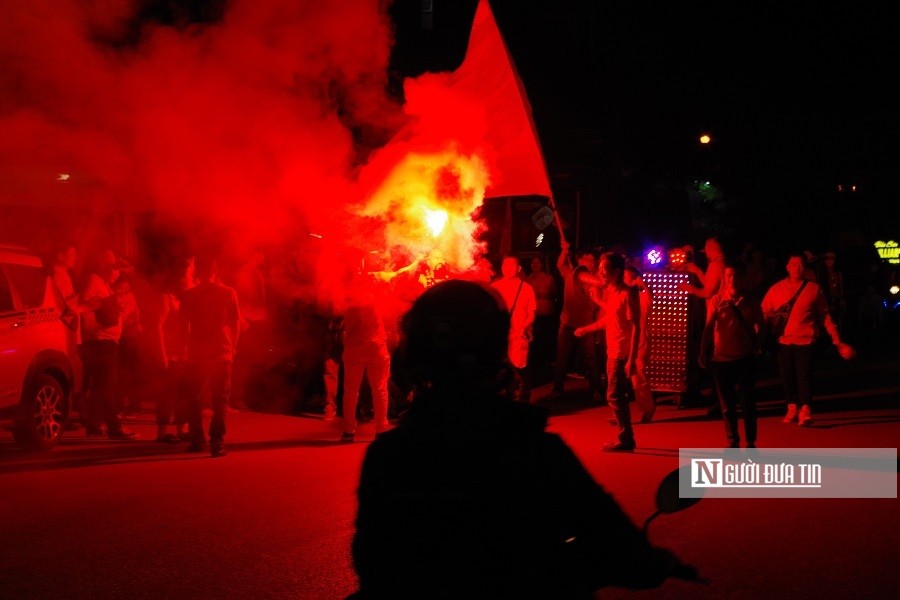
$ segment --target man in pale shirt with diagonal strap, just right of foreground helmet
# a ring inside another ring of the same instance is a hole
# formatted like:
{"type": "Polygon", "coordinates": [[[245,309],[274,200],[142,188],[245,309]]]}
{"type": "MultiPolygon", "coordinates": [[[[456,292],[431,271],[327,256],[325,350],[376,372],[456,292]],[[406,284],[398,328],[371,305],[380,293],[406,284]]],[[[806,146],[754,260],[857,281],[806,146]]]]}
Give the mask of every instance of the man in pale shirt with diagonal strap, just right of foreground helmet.
{"type": "Polygon", "coordinates": [[[534,288],[522,279],[522,266],[515,256],[507,256],[501,263],[502,276],[491,284],[503,298],[509,311],[509,362],[516,369],[512,397],[520,402],[531,398],[531,376],[528,372],[528,349],[533,339],[532,326],[537,308],[534,288]]]}

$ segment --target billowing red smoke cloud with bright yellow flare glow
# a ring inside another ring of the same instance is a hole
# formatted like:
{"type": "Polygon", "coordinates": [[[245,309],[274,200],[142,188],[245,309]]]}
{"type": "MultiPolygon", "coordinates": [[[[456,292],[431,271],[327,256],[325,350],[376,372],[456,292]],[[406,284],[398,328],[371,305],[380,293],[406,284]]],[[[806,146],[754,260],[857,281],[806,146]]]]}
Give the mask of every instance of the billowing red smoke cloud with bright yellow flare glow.
{"type": "Polygon", "coordinates": [[[410,82],[405,109],[388,97],[385,2],[231,0],[177,27],[143,5],[3,2],[5,214],[149,213],[235,256],[282,248],[313,262],[301,295],[360,253],[384,273],[437,256],[484,276],[484,115],[441,76],[410,82]],[[447,213],[438,234],[429,211],[447,213]]]}

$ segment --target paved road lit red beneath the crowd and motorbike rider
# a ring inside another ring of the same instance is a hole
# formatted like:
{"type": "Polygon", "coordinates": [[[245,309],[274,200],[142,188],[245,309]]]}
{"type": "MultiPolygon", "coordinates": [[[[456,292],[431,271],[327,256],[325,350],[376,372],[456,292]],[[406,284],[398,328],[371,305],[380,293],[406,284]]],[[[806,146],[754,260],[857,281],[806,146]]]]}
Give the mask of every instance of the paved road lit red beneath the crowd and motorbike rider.
{"type": "MultiPolygon", "coordinates": [[[[896,447],[898,365],[896,356],[822,361],[808,429],[781,423],[777,385],[764,377],[760,444],[896,447]]],[[[662,398],[655,421],[636,427],[637,453],[603,454],[607,409],[570,385],[576,397],[550,406],[551,428],[636,522],[652,513],[679,448],[723,442],[720,422],[662,398]]],[[[132,425],[142,440],[76,433],[45,454],[0,436],[0,598],[337,599],[353,590],[354,490],[371,425],[340,445],[339,422],[316,415],[232,413],[231,453],[219,460],[152,441],[150,412],[132,425]]],[[[708,583],[602,597],[896,597],[897,509],[896,499],[704,499],[654,521],[650,536],[708,583]]]]}

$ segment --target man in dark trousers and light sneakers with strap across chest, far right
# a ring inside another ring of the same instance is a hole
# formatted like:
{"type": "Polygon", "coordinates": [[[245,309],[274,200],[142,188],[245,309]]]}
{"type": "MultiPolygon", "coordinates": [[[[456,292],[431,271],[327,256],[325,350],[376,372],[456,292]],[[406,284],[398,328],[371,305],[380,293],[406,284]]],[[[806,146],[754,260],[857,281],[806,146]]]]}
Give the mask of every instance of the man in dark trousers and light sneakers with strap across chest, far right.
{"type": "Polygon", "coordinates": [[[803,254],[791,254],[785,268],[788,276],[766,292],[762,301],[762,311],[768,320],[796,294],[784,332],[778,337],[778,348],[775,352],[787,402],[784,422],[798,422],[800,426],[806,427],[813,422],[810,408],[812,358],[819,327],[824,328],[831,337],[841,358],[849,360],[855,357],[856,350],[841,342],[838,328],[828,312],[828,301],[819,284],[806,280],[805,289],[800,289],[806,269],[803,254]]]}

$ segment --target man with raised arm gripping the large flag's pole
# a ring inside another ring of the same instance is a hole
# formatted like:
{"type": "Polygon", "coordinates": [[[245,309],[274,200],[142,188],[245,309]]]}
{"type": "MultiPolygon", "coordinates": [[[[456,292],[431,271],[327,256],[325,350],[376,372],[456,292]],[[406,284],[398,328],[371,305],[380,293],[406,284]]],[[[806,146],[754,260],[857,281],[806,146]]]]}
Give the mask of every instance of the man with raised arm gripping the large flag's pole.
{"type": "MultiPolygon", "coordinates": [[[[579,327],[590,325],[597,316],[597,305],[591,299],[590,288],[596,286],[599,281],[592,275],[595,268],[594,254],[590,250],[580,249],[575,254],[576,266],[569,264],[569,244],[565,240],[561,242],[562,251],[556,268],[563,276],[563,307],[559,317],[559,332],[556,337],[556,363],[553,365],[553,394],[552,398],[558,399],[563,395],[563,382],[566,377],[566,368],[569,358],[575,347],[575,341],[579,340],[575,330],[579,327]]],[[[601,402],[600,394],[600,369],[597,366],[597,348],[593,337],[582,337],[579,340],[584,355],[585,368],[587,369],[588,382],[592,392],[592,399],[601,402]]]]}

